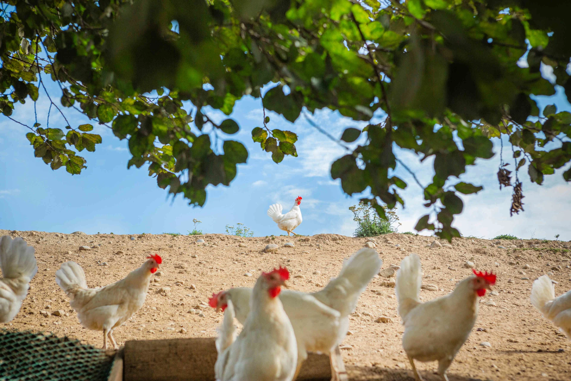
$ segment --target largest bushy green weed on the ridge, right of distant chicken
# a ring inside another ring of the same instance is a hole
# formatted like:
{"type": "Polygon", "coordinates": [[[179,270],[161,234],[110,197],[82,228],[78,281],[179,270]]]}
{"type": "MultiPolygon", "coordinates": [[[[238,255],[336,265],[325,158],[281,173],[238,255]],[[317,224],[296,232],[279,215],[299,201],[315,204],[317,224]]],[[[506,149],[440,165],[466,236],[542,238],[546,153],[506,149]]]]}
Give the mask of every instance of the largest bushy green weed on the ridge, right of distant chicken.
{"type": "Polygon", "coordinates": [[[375,208],[371,205],[359,202],[359,205],[349,207],[353,213],[353,221],[357,222],[357,228],[353,233],[356,237],[372,237],[375,235],[389,234],[397,231],[396,224],[399,217],[396,215],[395,209],[389,209],[383,205],[387,219],[379,217],[375,208]]]}

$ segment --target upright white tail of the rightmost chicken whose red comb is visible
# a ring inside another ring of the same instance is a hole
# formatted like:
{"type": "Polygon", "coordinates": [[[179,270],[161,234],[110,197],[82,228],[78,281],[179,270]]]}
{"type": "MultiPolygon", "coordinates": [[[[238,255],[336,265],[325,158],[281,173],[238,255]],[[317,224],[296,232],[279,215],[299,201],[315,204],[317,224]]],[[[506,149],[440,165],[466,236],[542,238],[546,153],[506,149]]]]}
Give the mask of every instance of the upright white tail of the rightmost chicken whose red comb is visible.
{"type": "Polygon", "coordinates": [[[420,303],[422,271],[419,256],[411,254],[400,262],[400,269],[396,272],[395,295],[399,303],[399,315],[403,319],[413,307],[420,303]]]}

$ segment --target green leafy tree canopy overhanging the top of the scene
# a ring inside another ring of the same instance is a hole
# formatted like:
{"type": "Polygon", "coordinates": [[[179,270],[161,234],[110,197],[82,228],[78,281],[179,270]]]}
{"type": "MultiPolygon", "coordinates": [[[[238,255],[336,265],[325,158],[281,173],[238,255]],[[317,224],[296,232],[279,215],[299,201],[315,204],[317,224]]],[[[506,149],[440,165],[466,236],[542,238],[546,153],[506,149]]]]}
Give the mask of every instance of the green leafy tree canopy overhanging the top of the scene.
{"type": "MultiPolygon", "coordinates": [[[[361,134],[366,142],[331,166],[347,194],[370,189],[363,202],[381,217],[383,204],[404,205],[395,148],[434,157],[435,176],[421,185],[429,213],[416,230],[451,239],[460,236],[451,226],[463,210],[457,192],[482,187],[447,180],[491,158],[491,137],[509,135],[512,145],[513,165],[502,161],[498,171],[500,186],[513,186],[512,213],[522,210],[521,166],[541,184],[571,159],[571,114],[548,106],[540,115],[533,100],[556,85],[571,98],[568,14],[571,2],[556,0],[3,1],[0,110],[11,118],[28,97],[49,96],[50,78],[63,93],[61,105],[50,98],[54,113],[75,109],[128,139],[128,167],[148,163],[160,187],[202,206],[206,186],[229,185],[248,158],[231,139],[238,123],[215,123],[206,106],[230,115],[236,100],[278,83],[264,110],[291,122],[325,107],[355,121],[387,116],[345,130],[344,142],[361,134]],[[526,51],[529,67],[519,67],[526,51]],[[541,65],[553,68],[555,84],[541,65]]],[[[93,125],[50,127],[46,119],[25,125],[34,155],[81,173],[78,154],[101,137],[93,125]]],[[[252,139],[276,163],[296,157],[296,134],[268,123],[264,115],[252,139]]],[[[563,177],[570,181],[571,171],[563,177]]]]}

